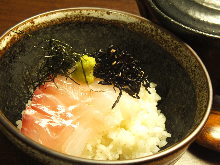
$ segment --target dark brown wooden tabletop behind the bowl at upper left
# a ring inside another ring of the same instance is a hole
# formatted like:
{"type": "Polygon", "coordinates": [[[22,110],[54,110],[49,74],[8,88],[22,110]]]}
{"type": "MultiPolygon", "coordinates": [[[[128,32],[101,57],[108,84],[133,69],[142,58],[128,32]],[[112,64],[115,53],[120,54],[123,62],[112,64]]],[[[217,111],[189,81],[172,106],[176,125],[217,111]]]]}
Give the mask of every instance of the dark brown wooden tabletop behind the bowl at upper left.
{"type": "Polygon", "coordinates": [[[0,34],[31,16],[72,7],[101,7],[139,14],[135,0],[0,0],[0,34]]]}

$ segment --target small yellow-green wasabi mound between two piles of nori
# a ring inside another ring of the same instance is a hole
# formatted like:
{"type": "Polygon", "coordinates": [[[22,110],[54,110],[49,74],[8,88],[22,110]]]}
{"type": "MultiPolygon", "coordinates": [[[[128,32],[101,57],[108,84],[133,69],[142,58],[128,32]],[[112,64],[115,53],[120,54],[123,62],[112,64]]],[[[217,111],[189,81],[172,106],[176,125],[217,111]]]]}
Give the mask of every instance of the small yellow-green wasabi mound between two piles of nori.
{"type": "Polygon", "coordinates": [[[78,83],[93,83],[95,79],[93,75],[95,64],[95,58],[83,55],[80,58],[80,61],[76,63],[75,70],[71,74],[71,78],[78,83]]]}

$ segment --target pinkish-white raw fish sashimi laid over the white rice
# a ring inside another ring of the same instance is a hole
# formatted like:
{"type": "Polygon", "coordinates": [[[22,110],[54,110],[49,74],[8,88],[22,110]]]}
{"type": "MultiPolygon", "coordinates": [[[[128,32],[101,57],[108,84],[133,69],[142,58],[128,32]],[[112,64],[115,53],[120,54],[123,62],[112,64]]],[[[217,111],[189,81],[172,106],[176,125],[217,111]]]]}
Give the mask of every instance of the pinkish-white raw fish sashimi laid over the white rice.
{"type": "Polygon", "coordinates": [[[56,151],[80,156],[86,144],[113,126],[108,118],[118,92],[98,82],[78,85],[58,76],[41,85],[23,111],[21,132],[56,151]]]}

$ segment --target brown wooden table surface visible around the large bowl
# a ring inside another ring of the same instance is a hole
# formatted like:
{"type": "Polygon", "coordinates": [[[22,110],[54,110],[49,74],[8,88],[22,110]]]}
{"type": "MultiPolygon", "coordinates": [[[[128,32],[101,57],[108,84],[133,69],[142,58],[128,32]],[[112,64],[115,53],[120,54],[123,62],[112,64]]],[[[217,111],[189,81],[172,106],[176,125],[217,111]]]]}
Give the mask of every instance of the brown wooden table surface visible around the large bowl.
{"type": "MultiPolygon", "coordinates": [[[[104,7],[139,15],[135,0],[0,0],[0,35],[33,15],[71,7],[104,7]]],[[[1,165],[41,165],[0,133],[1,165]]],[[[176,165],[219,165],[220,154],[193,143],[176,165]]]]}

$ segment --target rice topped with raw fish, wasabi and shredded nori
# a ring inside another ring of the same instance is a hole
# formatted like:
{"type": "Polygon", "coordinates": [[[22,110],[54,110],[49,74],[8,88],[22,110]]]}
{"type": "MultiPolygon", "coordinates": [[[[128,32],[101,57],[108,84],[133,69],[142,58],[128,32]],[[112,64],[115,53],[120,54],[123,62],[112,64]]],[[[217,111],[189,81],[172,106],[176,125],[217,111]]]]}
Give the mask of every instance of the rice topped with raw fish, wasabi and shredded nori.
{"type": "Polygon", "coordinates": [[[84,55],[62,41],[45,42],[44,79],[17,121],[24,135],[96,160],[135,159],[167,144],[161,98],[140,61],[114,46],[84,55]]]}

